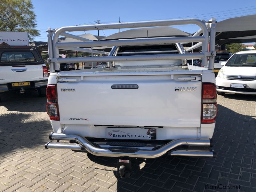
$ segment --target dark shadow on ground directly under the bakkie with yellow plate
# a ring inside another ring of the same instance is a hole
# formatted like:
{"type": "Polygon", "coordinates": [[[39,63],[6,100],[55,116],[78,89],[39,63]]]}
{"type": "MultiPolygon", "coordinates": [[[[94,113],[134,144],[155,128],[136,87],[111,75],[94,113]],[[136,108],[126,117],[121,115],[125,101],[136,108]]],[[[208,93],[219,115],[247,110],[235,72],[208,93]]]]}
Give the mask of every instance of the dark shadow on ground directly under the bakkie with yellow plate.
{"type": "Polygon", "coordinates": [[[8,111],[46,112],[46,97],[39,97],[38,92],[34,90],[25,93],[1,93],[0,97],[0,107],[3,106],[8,111]]]}

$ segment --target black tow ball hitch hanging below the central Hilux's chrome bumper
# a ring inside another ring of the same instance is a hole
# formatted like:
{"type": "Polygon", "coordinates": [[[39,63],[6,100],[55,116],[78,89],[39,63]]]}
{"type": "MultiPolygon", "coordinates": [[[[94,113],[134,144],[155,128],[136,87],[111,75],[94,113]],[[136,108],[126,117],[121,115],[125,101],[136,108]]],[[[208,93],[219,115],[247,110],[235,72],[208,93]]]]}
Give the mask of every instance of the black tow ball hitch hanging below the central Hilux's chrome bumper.
{"type": "Polygon", "coordinates": [[[118,159],[116,175],[123,179],[130,178],[132,172],[131,159],[118,159]]]}

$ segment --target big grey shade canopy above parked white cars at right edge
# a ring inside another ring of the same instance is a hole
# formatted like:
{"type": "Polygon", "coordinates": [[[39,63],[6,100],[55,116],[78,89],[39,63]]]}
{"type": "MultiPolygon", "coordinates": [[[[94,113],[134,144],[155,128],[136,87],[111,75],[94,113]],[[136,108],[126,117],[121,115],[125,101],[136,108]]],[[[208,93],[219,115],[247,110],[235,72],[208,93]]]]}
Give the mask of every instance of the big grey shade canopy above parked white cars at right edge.
{"type": "Polygon", "coordinates": [[[256,14],[216,23],[216,40],[256,35],[256,14]]]}

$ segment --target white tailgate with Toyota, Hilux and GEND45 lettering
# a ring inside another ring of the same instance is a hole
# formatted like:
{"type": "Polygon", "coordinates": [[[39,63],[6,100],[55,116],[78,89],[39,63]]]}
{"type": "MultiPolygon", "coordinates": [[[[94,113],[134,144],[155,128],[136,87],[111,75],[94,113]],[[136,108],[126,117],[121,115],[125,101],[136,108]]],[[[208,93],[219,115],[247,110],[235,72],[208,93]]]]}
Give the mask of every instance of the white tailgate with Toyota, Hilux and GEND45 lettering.
{"type": "Polygon", "coordinates": [[[77,81],[57,84],[60,123],[200,127],[202,83],[190,76],[69,76],[77,81]]]}

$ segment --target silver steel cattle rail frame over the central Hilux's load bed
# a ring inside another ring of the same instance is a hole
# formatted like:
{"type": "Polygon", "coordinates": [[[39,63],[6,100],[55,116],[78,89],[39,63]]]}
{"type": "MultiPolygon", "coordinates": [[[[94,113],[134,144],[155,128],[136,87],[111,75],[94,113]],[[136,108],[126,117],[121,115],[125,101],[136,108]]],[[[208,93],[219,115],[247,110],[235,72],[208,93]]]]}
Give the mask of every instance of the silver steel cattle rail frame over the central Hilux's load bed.
{"type": "Polygon", "coordinates": [[[178,20],[153,20],[153,21],[141,21],[141,22],[126,22],[126,23],[113,23],[113,24],[99,24],[99,25],[83,25],[83,26],[70,26],[61,27],[56,30],[48,28],[48,51],[49,51],[49,63],[50,72],[60,70],[60,62],[112,62],[112,61],[124,61],[124,60],[170,60],[170,59],[202,59],[202,66],[207,65],[207,58],[209,57],[209,69],[213,69],[214,56],[215,56],[215,18],[210,21],[198,20],[198,19],[178,19],[178,20]],[[209,23],[210,38],[208,34],[209,23]],[[111,41],[86,41],[84,42],[70,42],[70,43],[58,43],[59,36],[68,35],[74,39],[74,35],[66,33],[67,31],[89,31],[89,30],[101,30],[101,29],[118,29],[118,28],[141,28],[141,27],[157,27],[157,26],[172,26],[172,25],[184,25],[184,24],[196,24],[203,32],[202,36],[191,37],[165,37],[165,38],[150,38],[150,39],[128,39],[128,40],[111,40],[111,41]],[[206,25],[207,24],[207,25],[206,25]],[[208,41],[210,43],[208,51],[208,41]],[[189,54],[165,54],[164,57],[161,54],[158,55],[141,55],[141,56],[122,56],[113,57],[109,54],[109,57],[77,57],[77,58],[59,58],[59,48],[71,48],[75,47],[98,47],[98,46],[116,46],[116,45],[149,45],[149,44],[171,44],[182,42],[202,42],[202,53],[189,53],[189,54]]]}

